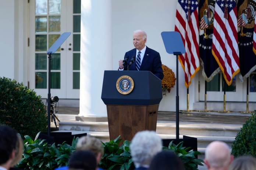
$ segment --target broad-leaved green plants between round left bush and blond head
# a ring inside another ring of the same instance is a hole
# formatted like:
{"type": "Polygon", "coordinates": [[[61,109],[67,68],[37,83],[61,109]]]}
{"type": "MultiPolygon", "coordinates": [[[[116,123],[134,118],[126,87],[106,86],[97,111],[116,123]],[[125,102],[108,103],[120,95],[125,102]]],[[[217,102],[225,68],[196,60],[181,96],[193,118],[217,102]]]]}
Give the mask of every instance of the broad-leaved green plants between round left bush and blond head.
{"type": "Polygon", "coordinates": [[[25,136],[24,154],[17,167],[24,170],[53,170],[67,166],[70,155],[75,152],[78,137],[73,138],[71,146],[64,142],[56,147],[55,144],[50,145],[38,139],[39,133],[35,140],[25,136]]]}

